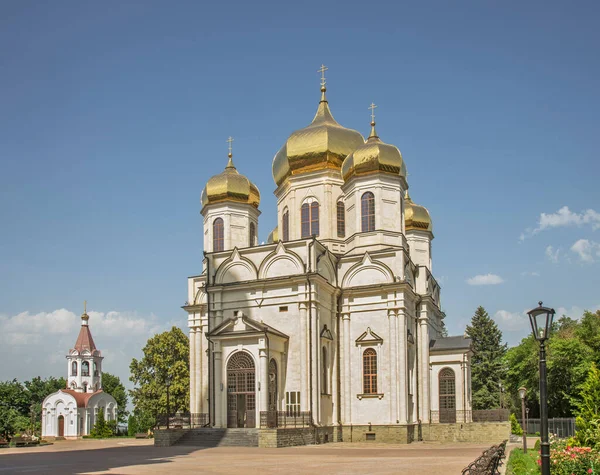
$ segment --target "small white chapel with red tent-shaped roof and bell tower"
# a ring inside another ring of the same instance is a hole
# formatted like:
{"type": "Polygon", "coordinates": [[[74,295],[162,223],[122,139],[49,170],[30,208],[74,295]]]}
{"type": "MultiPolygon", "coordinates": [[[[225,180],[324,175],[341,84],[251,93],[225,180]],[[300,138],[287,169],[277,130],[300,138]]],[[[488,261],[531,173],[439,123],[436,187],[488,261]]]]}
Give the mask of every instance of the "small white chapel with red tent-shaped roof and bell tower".
{"type": "Polygon", "coordinates": [[[102,353],[96,348],[88,325],[81,315],[75,346],[67,354],[67,387],[50,394],[42,403],[42,437],[68,439],[89,435],[98,412],[107,421],[117,419],[117,401],[102,391],[102,353]]]}

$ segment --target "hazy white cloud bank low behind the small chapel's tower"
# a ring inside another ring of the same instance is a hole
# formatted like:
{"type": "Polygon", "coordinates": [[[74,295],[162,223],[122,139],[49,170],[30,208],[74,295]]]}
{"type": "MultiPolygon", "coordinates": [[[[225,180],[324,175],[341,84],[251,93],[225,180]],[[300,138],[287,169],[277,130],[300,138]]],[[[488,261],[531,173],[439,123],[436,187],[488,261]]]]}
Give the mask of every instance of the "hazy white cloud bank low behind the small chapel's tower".
{"type": "MultiPolygon", "coordinates": [[[[128,387],[129,364],[155,333],[173,326],[156,315],[135,312],[88,312],[94,342],[104,356],[103,368],[128,387]]],[[[185,319],[175,324],[184,324],[185,319]]],[[[35,376],[66,376],[65,356],[79,334],[81,320],[67,309],[32,314],[0,314],[0,381],[35,376]]]]}

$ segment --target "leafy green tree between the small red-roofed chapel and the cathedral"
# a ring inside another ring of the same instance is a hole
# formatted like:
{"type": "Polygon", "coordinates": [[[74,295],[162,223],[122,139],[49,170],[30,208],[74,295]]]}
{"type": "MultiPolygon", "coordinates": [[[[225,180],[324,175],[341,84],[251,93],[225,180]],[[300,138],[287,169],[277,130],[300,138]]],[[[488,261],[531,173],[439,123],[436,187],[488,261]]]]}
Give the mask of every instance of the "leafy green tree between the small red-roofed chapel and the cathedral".
{"type": "Polygon", "coordinates": [[[189,341],[177,327],[154,335],[143,349],[141,360],[129,366],[135,385],[131,397],[135,410],[155,419],[167,413],[167,384],[170,412],[189,407],[189,341]]]}

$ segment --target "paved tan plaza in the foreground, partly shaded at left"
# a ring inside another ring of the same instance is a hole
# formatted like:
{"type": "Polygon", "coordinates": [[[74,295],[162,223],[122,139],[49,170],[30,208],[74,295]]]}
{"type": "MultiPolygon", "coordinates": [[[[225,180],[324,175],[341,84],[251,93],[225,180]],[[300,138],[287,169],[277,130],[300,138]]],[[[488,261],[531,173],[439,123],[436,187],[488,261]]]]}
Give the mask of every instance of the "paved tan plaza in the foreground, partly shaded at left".
{"type": "Polygon", "coordinates": [[[154,447],[151,440],[56,442],[0,449],[0,475],[31,474],[400,474],[452,475],[489,444],[326,444],[286,449],[154,447]]]}

